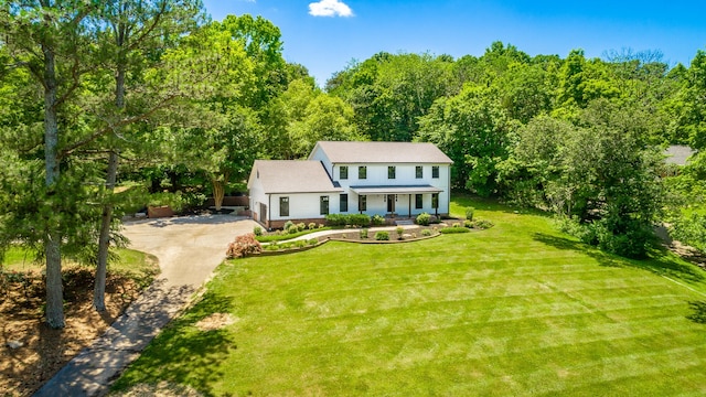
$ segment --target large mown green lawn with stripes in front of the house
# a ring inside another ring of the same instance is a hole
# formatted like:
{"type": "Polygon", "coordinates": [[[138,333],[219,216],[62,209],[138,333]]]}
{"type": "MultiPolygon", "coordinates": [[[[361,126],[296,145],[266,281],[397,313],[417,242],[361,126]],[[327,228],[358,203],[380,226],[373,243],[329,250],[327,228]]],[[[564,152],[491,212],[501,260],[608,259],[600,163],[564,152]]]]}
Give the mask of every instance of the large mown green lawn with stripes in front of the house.
{"type": "Polygon", "coordinates": [[[224,264],[116,383],[206,395],[706,394],[706,272],[607,256],[541,214],[397,245],[328,243],[224,264]],[[664,276],[666,277],[664,277],[664,276]],[[668,279],[667,279],[668,277],[668,279]],[[194,324],[214,312],[234,323],[194,324]]]}

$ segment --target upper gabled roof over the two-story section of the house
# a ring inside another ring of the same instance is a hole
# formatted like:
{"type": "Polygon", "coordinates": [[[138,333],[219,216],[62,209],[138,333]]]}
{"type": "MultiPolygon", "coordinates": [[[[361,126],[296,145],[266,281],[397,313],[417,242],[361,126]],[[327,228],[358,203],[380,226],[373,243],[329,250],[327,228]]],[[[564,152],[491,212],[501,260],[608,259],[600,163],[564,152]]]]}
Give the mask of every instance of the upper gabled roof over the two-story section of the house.
{"type": "MultiPolygon", "coordinates": [[[[332,163],[434,163],[451,164],[434,143],[417,142],[334,142],[319,141],[313,152],[322,150],[332,163]]],[[[311,155],[309,157],[311,159],[311,155]]]]}

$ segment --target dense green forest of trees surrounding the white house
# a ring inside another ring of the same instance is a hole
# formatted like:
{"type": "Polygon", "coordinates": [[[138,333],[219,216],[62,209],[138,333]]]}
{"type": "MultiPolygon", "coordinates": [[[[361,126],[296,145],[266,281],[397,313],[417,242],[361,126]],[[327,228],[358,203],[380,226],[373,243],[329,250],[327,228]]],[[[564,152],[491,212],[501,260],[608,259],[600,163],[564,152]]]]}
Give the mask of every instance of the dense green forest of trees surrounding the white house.
{"type": "Polygon", "coordinates": [[[197,0],[0,4],[0,253],[21,243],[46,262],[52,326],[63,257],[95,264],[104,308],[122,215],[220,206],[255,159],[306,158],[319,140],[434,142],[456,189],[554,212],[619,255],[643,257],[662,222],[706,248],[702,50],[688,66],[501,42],[459,58],[378,53],[318,87],[272,23],[210,21],[197,0]],[[668,167],[668,144],[696,154],[668,167]]]}

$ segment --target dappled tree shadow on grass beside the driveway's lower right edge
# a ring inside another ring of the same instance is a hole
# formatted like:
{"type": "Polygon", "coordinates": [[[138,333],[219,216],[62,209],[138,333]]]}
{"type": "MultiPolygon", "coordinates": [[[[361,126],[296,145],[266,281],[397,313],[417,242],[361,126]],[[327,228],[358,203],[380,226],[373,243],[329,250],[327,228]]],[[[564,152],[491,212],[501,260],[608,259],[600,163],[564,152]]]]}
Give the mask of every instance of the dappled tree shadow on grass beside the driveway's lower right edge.
{"type": "Polygon", "coordinates": [[[189,385],[205,396],[212,396],[211,385],[223,378],[220,363],[236,350],[233,334],[226,329],[201,331],[194,326],[213,313],[231,313],[231,300],[212,292],[185,314],[174,320],[145,350],[138,361],[115,383],[114,390],[125,390],[138,384],[189,385]]]}

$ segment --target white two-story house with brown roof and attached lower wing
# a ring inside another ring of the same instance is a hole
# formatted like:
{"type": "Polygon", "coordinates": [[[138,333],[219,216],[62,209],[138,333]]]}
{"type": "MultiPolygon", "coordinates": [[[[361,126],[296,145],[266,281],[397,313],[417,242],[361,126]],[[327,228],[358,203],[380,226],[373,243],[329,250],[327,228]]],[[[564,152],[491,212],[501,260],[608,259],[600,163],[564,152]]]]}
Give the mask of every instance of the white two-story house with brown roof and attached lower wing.
{"type": "Polygon", "coordinates": [[[308,160],[257,160],[250,208],[268,228],[327,214],[447,215],[451,159],[432,143],[318,142],[308,160]]]}

